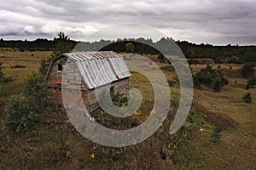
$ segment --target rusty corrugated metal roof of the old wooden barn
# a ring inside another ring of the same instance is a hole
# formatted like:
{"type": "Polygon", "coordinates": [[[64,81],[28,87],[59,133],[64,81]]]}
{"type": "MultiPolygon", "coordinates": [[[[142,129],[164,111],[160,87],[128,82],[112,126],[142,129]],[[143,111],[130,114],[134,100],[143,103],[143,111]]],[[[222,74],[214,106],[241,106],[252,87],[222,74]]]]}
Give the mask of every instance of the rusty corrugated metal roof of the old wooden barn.
{"type": "Polygon", "coordinates": [[[76,63],[84,82],[90,89],[131,77],[122,55],[113,51],[79,52],[63,55],[76,63]]]}

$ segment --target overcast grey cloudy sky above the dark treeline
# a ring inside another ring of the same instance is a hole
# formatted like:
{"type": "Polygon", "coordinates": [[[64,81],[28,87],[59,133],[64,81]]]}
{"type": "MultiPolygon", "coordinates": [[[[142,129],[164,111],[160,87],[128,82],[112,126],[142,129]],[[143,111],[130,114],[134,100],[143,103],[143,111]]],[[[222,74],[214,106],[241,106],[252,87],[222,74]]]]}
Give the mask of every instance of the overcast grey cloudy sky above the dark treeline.
{"type": "Polygon", "coordinates": [[[256,0],[1,0],[0,37],[74,40],[121,23],[153,26],[175,40],[256,44],[256,0]]]}

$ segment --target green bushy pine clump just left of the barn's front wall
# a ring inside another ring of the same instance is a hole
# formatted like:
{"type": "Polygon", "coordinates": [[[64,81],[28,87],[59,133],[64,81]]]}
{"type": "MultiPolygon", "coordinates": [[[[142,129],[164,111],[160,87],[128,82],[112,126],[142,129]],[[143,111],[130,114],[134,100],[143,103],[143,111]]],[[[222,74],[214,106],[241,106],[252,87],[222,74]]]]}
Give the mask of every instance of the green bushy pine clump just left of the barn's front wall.
{"type": "Polygon", "coordinates": [[[6,125],[18,133],[29,131],[37,122],[37,111],[44,107],[46,86],[36,72],[27,77],[23,94],[9,100],[6,125]]]}

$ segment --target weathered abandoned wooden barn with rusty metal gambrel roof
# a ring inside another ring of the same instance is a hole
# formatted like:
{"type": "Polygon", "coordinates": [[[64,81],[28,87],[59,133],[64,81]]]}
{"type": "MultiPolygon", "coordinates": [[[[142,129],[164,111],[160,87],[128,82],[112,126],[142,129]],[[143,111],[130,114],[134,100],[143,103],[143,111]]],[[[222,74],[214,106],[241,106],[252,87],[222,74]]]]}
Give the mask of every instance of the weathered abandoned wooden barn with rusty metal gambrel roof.
{"type": "Polygon", "coordinates": [[[122,55],[113,51],[63,54],[52,59],[45,76],[45,81],[48,84],[48,100],[61,103],[61,90],[66,92],[79,90],[86,108],[89,111],[95,111],[99,107],[95,89],[111,84],[111,94],[126,96],[130,76],[131,73],[127,69],[122,55]],[[67,70],[67,64],[69,65],[69,77],[75,78],[79,74],[81,79],[79,82],[73,82],[73,86],[69,85],[68,88],[63,88],[65,86],[61,83],[63,72],[67,70]]]}

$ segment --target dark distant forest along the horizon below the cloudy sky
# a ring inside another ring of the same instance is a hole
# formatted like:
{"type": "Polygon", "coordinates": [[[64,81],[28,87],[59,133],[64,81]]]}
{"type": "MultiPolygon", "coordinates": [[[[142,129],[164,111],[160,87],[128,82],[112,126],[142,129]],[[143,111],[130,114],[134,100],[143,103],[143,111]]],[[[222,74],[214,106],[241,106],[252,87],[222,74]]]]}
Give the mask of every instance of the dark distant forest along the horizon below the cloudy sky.
{"type": "MultiPolygon", "coordinates": [[[[57,38],[53,40],[47,40],[38,38],[34,41],[21,41],[21,40],[0,40],[0,48],[16,48],[20,52],[28,51],[49,51],[55,48],[57,38]]],[[[73,48],[78,42],[69,40],[73,48]]],[[[124,38],[117,39],[116,41],[101,40],[100,42],[84,42],[88,49],[94,50],[100,48],[101,50],[112,50],[115,52],[126,52],[125,45],[131,42],[134,46],[133,52],[138,54],[160,54],[158,50],[153,47],[158,47],[162,42],[173,42],[172,38],[162,37],[160,41],[153,42],[151,39],[144,39],[142,37],[137,39],[124,38]],[[110,45],[108,45],[110,44],[110,45]],[[148,45],[145,45],[148,44],[148,45]]],[[[195,44],[186,41],[175,41],[179,48],[183,51],[183,54],[191,59],[214,59],[216,63],[256,63],[256,46],[213,46],[211,44],[195,44]]]]}

